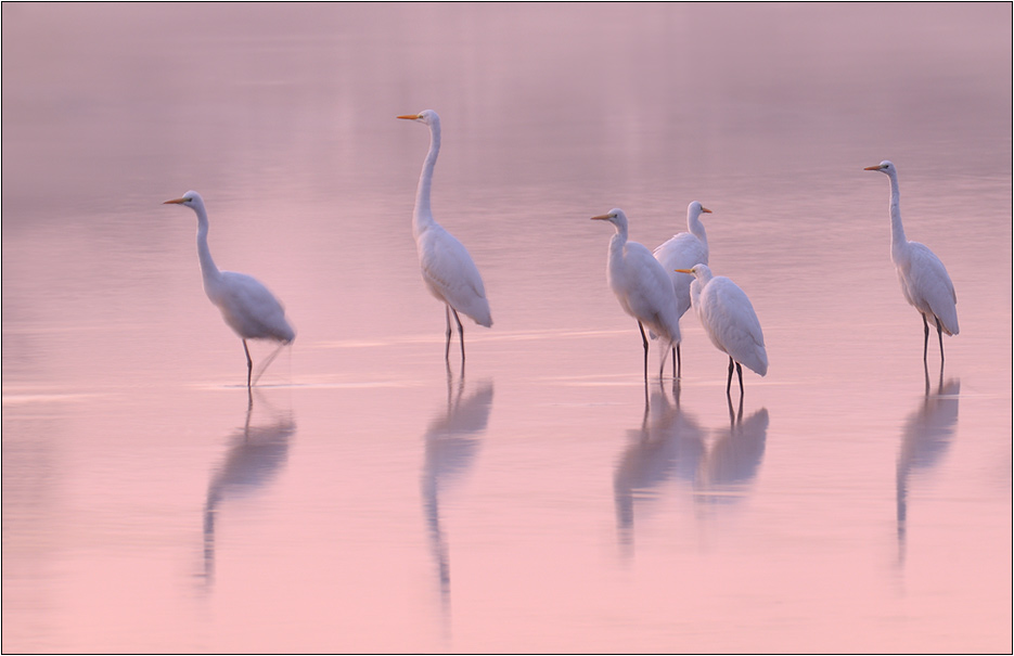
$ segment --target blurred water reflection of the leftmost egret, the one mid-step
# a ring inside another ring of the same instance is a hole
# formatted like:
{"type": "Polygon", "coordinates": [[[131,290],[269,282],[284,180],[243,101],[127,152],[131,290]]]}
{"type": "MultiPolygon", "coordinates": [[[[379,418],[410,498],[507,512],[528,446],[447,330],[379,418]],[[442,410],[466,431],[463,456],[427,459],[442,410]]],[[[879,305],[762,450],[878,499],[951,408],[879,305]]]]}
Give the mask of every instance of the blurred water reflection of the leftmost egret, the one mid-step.
{"type": "MultiPolygon", "coordinates": [[[[260,398],[259,393],[257,396],[260,398]]],[[[215,523],[222,502],[246,497],[270,483],[285,465],[290,439],[296,432],[291,410],[272,409],[268,420],[253,423],[254,395],[248,398],[246,421],[229,436],[226,459],[208,484],[204,504],[204,579],[207,584],[215,573],[215,523]]],[[[266,401],[265,406],[268,406],[266,401]]]]}

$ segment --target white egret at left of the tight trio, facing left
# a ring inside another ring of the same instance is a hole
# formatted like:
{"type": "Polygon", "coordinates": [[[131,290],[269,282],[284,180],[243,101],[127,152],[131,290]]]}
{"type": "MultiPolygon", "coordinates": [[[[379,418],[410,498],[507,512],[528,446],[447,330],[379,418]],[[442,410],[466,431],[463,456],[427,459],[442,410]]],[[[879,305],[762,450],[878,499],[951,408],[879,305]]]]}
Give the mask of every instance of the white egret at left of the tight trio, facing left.
{"type": "MultiPolygon", "coordinates": [[[[627,241],[627,215],[619,208],[608,214],[592,217],[593,221],[608,221],[616,229],[609,240],[609,256],[606,265],[606,278],[609,287],[616,294],[619,305],[628,314],[638,320],[641,339],[644,343],[644,380],[647,380],[647,337],[644,326],[649,327],[652,338],[656,335],[671,347],[680,343],[680,318],[676,313],[676,293],[668,273],[662,268],[652,252],[642,244],[627,241]]],[[[662,376],[666,359],[662,359],[662,376]]],[[[672,372],[676,375],[676,372],[672,372]]]]}

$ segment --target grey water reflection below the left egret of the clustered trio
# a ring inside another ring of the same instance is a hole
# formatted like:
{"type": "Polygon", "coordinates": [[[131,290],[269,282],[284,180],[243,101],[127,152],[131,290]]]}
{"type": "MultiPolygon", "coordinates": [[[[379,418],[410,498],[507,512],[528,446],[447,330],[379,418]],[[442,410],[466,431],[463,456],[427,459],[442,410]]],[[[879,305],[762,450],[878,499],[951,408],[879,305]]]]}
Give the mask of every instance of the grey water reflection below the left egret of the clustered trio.
{"type": "Polygon", "coordinates": [[[657,498],[653,490],[669,478],[693,481],[705,454],[704,430],[680,408],[679,382],[672,383],[672,401],[662,380],[658,390],[644,389],[641,426],[628,430],[629,445],[616,465],[613,491],[620,546],[633,548],[634,507],[657,498]]]}

